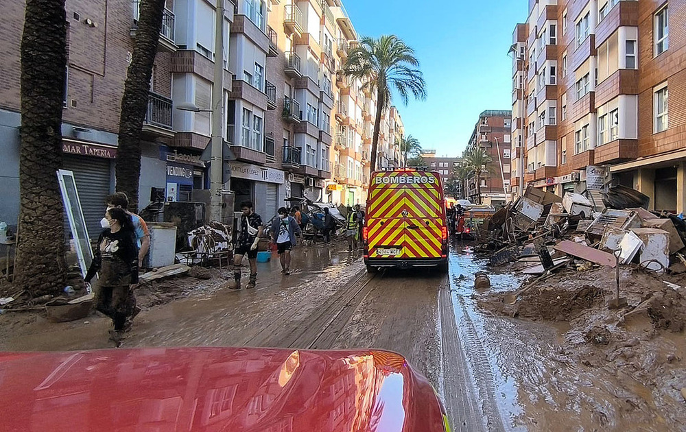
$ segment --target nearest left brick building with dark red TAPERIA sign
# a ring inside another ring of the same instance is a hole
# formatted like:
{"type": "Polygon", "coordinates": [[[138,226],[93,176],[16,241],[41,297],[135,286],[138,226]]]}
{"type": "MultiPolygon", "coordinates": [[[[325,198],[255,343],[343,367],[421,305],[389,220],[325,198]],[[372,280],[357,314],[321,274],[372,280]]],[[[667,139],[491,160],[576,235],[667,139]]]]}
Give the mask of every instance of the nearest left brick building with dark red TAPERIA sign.
{"type": "MultiPolygon", "coordinates": [[[[10,226],[19,215],[20,57],[24,1],[0,5],[0,178],[3,184],[0,220],[10,226]]],[[[67,85],[64,88],[62,150],[64,169],[73,171],[88,232],[97,234],[104,199],[115,186],[119,108],[126,70],[137,32],[139,1],[68,0],[67,85]]],[[[158,53],[150,83],[150,101],[143,125],[140,200],[164,193],[167,184],[192,185],[204,163],[185,149],[168,147],[172,127],[171,57],[175,40],[174,2],[167,1],[158,53]]],[[[174,199],[187,188],[169,188],[174,199]]],[[[65,219],[66,220],[66,219],[65,219]]]]}

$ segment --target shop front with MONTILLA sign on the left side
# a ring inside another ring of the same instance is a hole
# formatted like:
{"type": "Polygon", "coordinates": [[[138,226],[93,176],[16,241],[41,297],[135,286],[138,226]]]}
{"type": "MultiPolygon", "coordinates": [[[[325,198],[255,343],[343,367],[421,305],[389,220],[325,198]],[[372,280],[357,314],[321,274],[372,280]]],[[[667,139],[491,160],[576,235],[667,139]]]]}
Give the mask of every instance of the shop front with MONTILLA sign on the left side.
{"type": "MultiPolygon", "coordinates": [[[[252,201],[255,212],[264,221],[276,215],[276,210],[285,206],[285,172],[280,169],[261,167],[231,160],[227,163],[231,171],[230,190],[235,193],[234,211],[241,210],[241,202],[252,201]]],[[[291,195],[293,184],[291,184],[291,195]]]]}

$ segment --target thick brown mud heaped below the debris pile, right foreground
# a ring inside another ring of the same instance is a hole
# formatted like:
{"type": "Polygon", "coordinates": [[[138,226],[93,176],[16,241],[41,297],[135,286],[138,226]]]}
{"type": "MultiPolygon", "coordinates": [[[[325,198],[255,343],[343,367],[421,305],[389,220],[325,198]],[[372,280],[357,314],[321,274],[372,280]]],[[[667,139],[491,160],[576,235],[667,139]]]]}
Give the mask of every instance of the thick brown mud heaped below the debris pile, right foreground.
{"type": "Polygon", "coordinates": [[[524,365],[539,372],[520,389],[525,411],[538,413],[530,430],[686,430],[686,276],[622,267],[620,278],[623,309],[608,309],[615,270],[602,267],[565,268],[518,295],[475,294],[495,316],[560,330],[524,365]]]}

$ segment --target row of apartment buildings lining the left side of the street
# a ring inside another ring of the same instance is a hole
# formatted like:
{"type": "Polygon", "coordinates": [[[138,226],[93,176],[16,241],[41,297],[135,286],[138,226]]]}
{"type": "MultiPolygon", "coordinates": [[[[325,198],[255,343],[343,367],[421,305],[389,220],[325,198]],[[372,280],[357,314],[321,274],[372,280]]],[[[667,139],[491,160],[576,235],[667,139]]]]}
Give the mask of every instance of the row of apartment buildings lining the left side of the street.
{"type": "MultiPolygon", "coordinates": [[[[202,152],[211,114],[175,107],[213,105],[215,4],[167,0],[143,126],[141,208],[155,197],[202,200],[198,192],[209,188],[202,152]]],[[[230,171],[225,189],[234,191],[235,208],[250,199],[269,217],[289,197],[364,202],[375,95],[340,72],[357,40],[342,3],[226,0],[224,6],[224,141],[231,149],[224,171],[230,171]]],[[[89,231],[98,232],[104,197],[115,187],[119,107],[139,1],[67,0],[66,8],[64,169],[74,172],[89,231]]],[[[0,220],[14,226],[24,2],[5,1],[0,12],[0,220]]],[[[396,143],[404,131],[394,107],[384,113],[381,130],[378,166],[399,165],[396,143]]]]}

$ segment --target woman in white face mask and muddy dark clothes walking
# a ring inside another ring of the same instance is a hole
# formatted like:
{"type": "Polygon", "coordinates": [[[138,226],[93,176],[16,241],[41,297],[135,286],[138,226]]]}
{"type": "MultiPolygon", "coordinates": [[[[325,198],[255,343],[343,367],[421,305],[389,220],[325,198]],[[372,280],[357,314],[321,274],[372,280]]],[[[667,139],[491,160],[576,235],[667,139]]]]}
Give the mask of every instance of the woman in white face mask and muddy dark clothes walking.
{"type": "Polygon", "coordinates": [[[110,340],[119,344],[132,323],[127,318],[136,304],[132,285],[138,283],[139,251],[131,217],[122,208],[109,208],[100,224],[104,230],[97,239],[84,282],[88,289],[99,272],[94,290],[95,309],[112,319],[114,330],[110,331],[110,340]]]}

